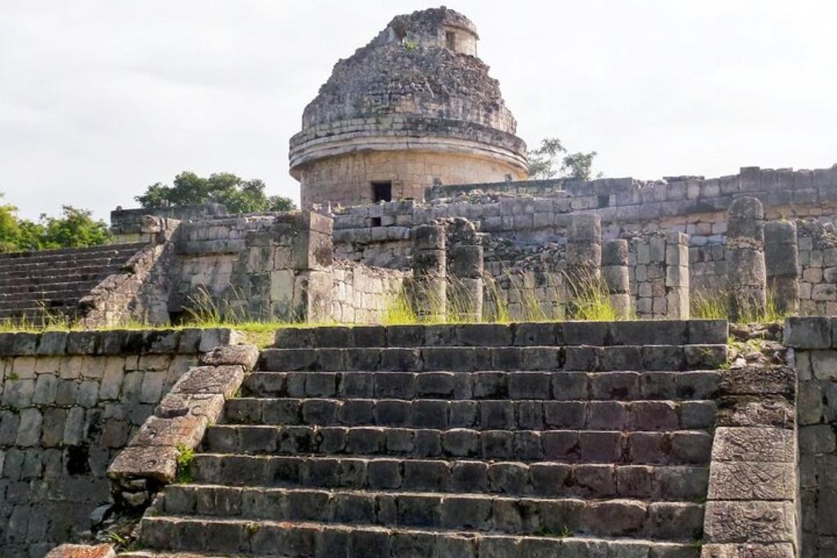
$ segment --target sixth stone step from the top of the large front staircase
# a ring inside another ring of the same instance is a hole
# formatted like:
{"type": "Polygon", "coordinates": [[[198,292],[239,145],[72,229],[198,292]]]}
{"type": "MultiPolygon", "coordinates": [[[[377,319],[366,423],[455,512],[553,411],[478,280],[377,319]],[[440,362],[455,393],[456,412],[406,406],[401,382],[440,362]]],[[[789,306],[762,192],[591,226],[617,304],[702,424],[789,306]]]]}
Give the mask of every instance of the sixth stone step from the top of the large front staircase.
{"type": "Polygon", "coordinates": [[[195,481],[229,486],[517,494],[696,501],[706,497],[706,467],[522,463],[466,459],[323,458],[198,453],[195,481]]]}

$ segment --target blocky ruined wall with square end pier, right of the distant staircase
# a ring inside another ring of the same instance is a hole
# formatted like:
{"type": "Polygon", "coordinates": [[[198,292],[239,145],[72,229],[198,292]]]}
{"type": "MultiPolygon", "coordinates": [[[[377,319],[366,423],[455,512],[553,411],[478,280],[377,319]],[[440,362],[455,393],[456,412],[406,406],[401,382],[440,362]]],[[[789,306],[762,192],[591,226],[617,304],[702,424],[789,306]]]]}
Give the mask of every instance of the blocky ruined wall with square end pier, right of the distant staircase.
{"type": "Polygon", "coordinates": [[[249,320],[326,320],[331,219],[311,212],[182,223],[169,309],[249,320]]]}

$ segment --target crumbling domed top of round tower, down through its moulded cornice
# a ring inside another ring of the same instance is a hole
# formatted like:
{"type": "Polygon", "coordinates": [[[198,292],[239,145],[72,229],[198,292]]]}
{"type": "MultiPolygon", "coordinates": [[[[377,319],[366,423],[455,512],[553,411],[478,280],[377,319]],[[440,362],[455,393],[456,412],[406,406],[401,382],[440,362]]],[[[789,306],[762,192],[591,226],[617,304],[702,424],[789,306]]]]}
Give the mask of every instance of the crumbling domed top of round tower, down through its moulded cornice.
{"type": "Polygon", "coordinates": [[[448,8],[399,15],[335,64],[290,140],[291,174],[323,157],[419,148],[501,160],[526,146],[500,85],[476,57],[473,23],[448,8]]]}

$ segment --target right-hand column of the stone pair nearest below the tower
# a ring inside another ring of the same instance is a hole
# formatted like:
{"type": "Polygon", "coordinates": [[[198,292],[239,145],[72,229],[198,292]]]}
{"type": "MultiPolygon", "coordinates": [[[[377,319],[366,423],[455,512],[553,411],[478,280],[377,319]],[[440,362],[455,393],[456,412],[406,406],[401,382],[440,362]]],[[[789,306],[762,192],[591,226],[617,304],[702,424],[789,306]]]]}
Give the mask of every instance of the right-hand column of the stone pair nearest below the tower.
{"type": "Polygon", "coordinates": [[[447,227],[447,312],[458,320],[482,319],[483,253],[474,223],[454,218],[447,227]]]}

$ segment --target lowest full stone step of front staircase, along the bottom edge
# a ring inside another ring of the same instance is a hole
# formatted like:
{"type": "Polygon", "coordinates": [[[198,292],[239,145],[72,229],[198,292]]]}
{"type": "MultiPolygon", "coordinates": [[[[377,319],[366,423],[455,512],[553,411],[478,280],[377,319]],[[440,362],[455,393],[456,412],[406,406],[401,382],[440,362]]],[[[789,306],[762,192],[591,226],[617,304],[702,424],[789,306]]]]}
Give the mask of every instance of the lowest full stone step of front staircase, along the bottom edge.
{"type": "MultiPolygon", "coordinates": [[[[699,558],[699,545],[642,539],[599,539],[568,534],[562,518],[545,517],[537,535],[490,535],[398,526],[275,522],[217,517],[146,516],[146,547],[282,558],[699,558]]],[[[684,534],[684,539],[689,534],[684,534]]],[[[148,558],[151,550],[134,554],[148,558]]],[[[172,558],[171,554],[164,554],[172,558]]],[[[184,558],[183,555],[177,555],[184,558]]]]}

